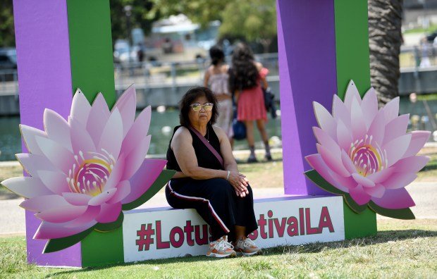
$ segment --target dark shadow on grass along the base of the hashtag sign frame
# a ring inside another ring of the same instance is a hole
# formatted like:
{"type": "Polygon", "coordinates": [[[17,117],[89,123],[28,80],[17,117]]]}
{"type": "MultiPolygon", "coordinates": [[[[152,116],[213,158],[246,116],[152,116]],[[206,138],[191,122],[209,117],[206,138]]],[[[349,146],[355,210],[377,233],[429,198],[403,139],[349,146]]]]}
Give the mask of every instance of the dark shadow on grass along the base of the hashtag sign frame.
{"type": "MultiPolygon", "coordinates": [[[[377,235],[371,237],[356,238],[353,240],[343,240],[337,242],[316,242],[301,245],[288,245],[263,249],[263,255],[274,254],[306,254],[319,253],[327,249],[343,249],[348,247],[365,247],[378,243],[395,242],[398,240],[414,239],[418,237],[436,237],[437,231],[434,230],[385,230],[378,232],[377,235]]],[[[99,271],[111,266],[134,266],[137,264],[146,264],[147,266],[158,266],[168,263],[192,263],[201,261],[223,261],[226,264],[228,259],[209,258],[207,256],[183,256],[170,259],[151,259],[146,261],[137,261],[133,263],[118,263],[106,266],[88,267],[73,271],[60,271],[47,275],[46,278],[51,278],[53,275],[69,275],[70,273],[82,273],[87,271],[99,271]]]]}

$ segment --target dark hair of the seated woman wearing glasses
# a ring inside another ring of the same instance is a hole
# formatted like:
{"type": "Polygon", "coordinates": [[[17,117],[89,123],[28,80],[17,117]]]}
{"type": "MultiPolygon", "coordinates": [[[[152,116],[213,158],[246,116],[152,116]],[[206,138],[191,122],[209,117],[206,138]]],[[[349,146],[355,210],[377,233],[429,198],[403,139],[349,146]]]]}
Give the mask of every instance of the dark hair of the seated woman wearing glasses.
{"type": "Polygon", "coordinates": [[[217,116],[219,116],[219,111],[217,111],[217,99],[214,96],[214,93],[207,87],[193,87],[190,90],[183,95],[182,99],[179,102],[179,122],[180,125],[183,125],[184,127],[189,127],[190,124],[190,118],[188,118],[188,113],[190,113],[191,106],[195,99],[204,96],[207,98],[208,102],[211,104],[214,104],[212,106],[212,115],[211,120],[209,120],[209,123],[211,125],[216,123],[217,116]]]}

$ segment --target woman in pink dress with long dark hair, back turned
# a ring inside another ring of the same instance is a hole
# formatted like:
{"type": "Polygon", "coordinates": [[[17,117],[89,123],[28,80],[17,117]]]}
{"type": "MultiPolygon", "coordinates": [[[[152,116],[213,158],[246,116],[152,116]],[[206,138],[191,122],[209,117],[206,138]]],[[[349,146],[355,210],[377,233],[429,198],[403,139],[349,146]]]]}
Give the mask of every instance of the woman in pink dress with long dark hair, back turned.
{"type": "Polygon", "coordinates": [[[246,44],[238,44],[232,56],[230,69],[230,89],[238,104],[238,120],[243,121],[247,130],[247,143],[250,148],[248,163],[256,162],[254,147],[254,122],[266,147],[265,158],[270,161],[269,136],[266,132],[267,112],[264,105],[262,87],[267,88],[266,75],[269,70],[254,61],[251,49],[246,44]]]}

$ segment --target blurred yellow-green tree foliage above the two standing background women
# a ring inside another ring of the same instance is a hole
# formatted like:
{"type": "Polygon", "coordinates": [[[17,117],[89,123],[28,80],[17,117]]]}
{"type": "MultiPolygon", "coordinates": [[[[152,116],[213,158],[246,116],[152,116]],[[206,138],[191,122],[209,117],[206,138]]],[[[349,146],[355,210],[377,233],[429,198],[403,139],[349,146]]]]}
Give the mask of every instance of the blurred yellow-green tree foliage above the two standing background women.
{"type": "Polygon", "coordinates": [[[267,52],[277,34],[275,3],[275,0],[230,2],[221,12],[220,36],[259,42],[264,47],[264,52],[267,52]]]}

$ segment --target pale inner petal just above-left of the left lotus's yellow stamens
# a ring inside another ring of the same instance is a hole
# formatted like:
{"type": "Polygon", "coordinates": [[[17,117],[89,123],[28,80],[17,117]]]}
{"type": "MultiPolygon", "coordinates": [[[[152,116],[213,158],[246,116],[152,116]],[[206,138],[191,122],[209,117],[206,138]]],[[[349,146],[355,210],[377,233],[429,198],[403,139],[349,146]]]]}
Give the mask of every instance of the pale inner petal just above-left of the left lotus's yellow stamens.
{"type": "Polygon", "coordinates": [[[85,129],[85,126],[74,118],[70,118],[69,122],[71,126],[71,144],[73,146],[73,153],[78,155],[79,151],[82,151],[82,154],[95,152],[96,146],[90,133],[85,129]]]}

